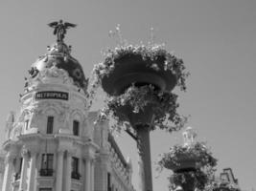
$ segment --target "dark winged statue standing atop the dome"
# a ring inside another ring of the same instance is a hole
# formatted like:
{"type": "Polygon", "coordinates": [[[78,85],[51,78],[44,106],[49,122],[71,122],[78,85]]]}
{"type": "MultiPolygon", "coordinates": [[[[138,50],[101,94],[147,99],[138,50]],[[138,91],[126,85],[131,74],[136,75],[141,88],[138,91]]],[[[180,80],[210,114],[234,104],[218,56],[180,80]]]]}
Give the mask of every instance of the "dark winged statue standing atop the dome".
{"type": "Polygon", "coordinates": [[[49,27],[54,28],[54,35],[57,35],[57,41],[58,42],[63,42],[63,39],[66,34],[66,30],[69,28],[75,28],[77,25],[72,24],[72,23],[63,23],[62,20],[59,20],[58,22],[52,22],[48,24],[49,27]]]}

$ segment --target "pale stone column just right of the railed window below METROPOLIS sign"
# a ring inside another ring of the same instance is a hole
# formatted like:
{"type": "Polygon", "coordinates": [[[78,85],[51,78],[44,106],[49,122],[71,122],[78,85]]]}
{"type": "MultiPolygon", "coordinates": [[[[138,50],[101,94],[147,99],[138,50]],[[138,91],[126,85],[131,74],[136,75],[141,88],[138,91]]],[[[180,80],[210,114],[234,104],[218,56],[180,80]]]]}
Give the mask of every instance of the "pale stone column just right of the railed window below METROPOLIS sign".
{"type": "Polygon", "coordinates": [[[57,174],[56,174],[56,191],[62,191],[62,174],[63,174],[63,150],[58,150],[58,163],[57,163],[57,174]]]}

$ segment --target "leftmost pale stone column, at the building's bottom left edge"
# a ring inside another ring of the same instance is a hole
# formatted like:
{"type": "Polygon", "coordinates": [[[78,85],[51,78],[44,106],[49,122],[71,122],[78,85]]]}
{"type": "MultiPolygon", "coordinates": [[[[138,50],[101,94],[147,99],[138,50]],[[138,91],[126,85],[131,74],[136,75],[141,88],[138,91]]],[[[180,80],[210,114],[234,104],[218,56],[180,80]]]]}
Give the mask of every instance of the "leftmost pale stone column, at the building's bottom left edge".
{"type": "Polygon", "coordinates": [[[5,176],[3,180],[3,191],[11,191],[12,188],[12,180],[13,180],[13,171],[14,171],[14,165],[13,165],[13,159],[14,156],[9,152],[6,160],[5,160],[5,176]]]}

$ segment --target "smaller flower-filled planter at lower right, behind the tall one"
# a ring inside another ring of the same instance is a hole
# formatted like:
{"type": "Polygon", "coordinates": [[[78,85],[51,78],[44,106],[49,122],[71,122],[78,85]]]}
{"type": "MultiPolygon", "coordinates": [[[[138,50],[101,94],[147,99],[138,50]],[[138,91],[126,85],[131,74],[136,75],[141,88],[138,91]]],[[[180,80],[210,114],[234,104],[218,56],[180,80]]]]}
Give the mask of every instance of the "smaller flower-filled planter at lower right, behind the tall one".
{"type": "Polygon", "coordinates": [[[192,185],[191,182],[193,182],[199,190],[202,190],[209,182],[216,165],[217,159],[212,156],[204,142],[175,145],[170,149],[169,153],[163,154],[158,161],[159,170],[165,167],[175,171],[169,178],[173,185],[192,185]],[[182,162],[188,161],[194,162],[195,165],[190,166],[190,168],[188,166],[184,168],[182,166],[184,163],[182,164],[182,162]]]}

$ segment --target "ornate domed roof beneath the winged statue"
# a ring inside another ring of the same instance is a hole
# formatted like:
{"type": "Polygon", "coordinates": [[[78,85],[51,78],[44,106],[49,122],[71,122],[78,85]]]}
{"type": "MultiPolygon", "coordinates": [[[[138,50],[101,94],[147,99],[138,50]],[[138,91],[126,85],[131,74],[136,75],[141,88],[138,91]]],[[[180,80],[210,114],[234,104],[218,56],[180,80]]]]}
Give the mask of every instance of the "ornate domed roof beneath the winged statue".
{"type": "Polygon", "coordinates": [[[74,84],[85,92],[88,79],[83,74],[81,64],[70,55],[70,51],[71,47],[68,47],[62,41],[58,41],[53,46],[48,47],[48,53],[40,56],[32,65],[32,69],[29,72],[31,77],[35,77],[38,72],[44,69],[56,66],[58,69],[66,71],[73,79],[74,84]]]}

